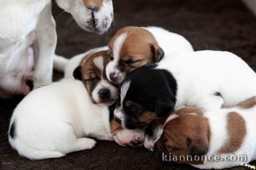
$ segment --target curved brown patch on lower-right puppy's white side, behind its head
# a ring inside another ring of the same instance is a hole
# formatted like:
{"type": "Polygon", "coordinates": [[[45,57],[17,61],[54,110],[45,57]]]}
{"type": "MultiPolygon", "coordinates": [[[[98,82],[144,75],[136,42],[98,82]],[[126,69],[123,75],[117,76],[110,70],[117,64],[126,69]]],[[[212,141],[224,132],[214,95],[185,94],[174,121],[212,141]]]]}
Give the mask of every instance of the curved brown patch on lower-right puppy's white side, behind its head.
{"type": "Polygon", "coordinates": [[[227,116],[228,139],[219,153],[234,153],[243,144],[246,135],[246,123],[237,112],[229,112],[227,116]]]}

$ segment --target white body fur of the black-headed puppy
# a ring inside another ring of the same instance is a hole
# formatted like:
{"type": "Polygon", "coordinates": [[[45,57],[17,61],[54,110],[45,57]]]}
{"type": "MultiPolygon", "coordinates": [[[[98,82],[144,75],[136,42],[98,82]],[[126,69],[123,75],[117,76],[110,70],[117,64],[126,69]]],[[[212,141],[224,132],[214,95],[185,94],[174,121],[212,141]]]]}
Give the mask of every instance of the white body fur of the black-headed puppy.
{"type": "Polygon", "coordinates": [[[231,52],[184,52],[161,61],[156,69],[162,68],[177,81],[175,109],[192,106],[211,111],[256,95],[255,72],[231,52]],[[214,95],[216,91],[222,97],[214,95]]]}

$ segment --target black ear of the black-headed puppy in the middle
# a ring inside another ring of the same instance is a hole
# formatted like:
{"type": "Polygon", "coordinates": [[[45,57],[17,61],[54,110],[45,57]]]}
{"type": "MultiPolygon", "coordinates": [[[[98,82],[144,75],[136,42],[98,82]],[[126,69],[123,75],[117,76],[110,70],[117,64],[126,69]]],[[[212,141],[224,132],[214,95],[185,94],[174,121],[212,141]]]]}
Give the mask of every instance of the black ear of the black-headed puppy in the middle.
{"type": "Polygon", "coordinates": [[[173,111],[175,102],[172,98],[159,98],[156,101],[156,114],[158,118],[166,116],[169,112],[173,111]]]}

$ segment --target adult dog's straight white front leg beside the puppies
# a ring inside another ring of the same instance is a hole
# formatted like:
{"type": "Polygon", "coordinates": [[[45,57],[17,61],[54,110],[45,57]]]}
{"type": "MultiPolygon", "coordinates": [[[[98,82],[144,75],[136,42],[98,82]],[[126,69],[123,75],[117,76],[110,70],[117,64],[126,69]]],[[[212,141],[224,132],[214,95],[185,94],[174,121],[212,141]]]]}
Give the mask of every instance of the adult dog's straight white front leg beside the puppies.
{"type": "Polygon", "coordinates": [[[36,26],[34,88],[52,82],[53,55],[56,49],[56,27],[52,17],[51,3],[45,6],[36,26]]]}

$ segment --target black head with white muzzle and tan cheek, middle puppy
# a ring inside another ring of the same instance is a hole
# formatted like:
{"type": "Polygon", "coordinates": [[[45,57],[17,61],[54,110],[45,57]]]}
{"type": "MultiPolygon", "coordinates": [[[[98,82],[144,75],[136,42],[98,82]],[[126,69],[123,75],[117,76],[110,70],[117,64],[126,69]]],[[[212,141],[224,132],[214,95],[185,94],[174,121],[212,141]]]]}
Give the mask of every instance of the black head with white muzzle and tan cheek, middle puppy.
{"type": "Polygon", "coordinates": [[[114,117],[123,127],[145,128],[173,110],[177,83],[170,72],[155,67],[141,66],[122,83],[114,117]]]}

